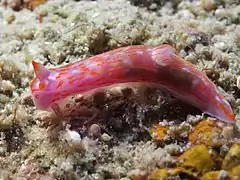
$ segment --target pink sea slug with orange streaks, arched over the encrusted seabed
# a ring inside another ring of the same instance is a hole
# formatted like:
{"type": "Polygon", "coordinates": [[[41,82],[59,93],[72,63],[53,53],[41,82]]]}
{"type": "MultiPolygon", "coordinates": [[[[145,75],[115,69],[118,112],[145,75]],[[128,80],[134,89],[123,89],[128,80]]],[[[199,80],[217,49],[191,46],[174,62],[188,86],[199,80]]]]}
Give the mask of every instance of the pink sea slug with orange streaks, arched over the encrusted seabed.
{"type": "Polygon", "coordinates": [[[55,69],[32,61],[36,78],[31,91],[39,110],[51,111],[62,99],[121,83],[145,83],[168,90],[219,120],[234,123],[230,104],[195,65],[170,45],[127,46],[55,69]]]}

